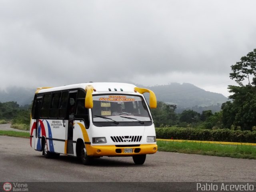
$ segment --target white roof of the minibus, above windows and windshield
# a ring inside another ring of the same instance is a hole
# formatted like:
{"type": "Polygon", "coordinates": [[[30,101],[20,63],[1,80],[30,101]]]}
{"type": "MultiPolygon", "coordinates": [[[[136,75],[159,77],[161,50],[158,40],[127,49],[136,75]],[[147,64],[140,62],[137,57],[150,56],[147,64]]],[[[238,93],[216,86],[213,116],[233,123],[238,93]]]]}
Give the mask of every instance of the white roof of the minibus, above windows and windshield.
{"type": "Polygon", "coordinates": [[[36,90],[37,93],[44,92],[52,92],[52,91],[60,91],[60,90],[70,90],[76,88],[82,88],[85,90],[86,86],[93,86],[94,92],[134,92],[134,88],[136,87],[133,84],[128,83],[114,83],[114,82],[89,82],[89,83],[81,83],[81,84],[72,84],[60,87],[39,87],[36,90]]]}

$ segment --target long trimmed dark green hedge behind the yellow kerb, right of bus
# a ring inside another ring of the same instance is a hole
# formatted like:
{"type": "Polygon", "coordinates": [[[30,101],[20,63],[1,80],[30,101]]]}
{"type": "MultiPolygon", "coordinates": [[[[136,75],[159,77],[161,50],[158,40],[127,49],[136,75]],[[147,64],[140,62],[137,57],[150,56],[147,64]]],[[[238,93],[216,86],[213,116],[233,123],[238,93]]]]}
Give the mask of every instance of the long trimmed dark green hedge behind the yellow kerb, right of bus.
{"type": "Polygon", "coordinates": [[[156,128],[158,139],[256,143],[256,131],[230,129],[156,128]]]}

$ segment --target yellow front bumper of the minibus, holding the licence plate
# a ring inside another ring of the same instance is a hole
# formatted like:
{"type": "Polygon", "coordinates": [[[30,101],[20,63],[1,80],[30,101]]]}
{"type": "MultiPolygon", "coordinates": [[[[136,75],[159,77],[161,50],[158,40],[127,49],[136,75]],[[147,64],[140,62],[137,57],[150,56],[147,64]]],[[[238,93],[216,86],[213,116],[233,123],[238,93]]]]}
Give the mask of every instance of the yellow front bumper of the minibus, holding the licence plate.
{"type": "Polygon", "coordinates": [[[154,154],[157,151],[156,144],[141,144],[140,146],[122,146],[99,145],[91,146],[86,144],[86,153],[88,156],[133,156],[141,154],[154,154]]]}

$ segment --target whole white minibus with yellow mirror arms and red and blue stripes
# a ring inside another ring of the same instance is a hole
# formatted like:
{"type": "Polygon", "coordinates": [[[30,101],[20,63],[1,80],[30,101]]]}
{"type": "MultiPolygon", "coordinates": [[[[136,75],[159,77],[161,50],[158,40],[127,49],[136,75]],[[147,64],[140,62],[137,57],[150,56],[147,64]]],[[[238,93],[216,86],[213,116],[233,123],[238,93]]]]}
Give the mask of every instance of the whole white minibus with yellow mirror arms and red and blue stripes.
{"type": "Polygon", "coordinates": [[[157,151],[149,107],[156,108],[154,92],[132,84],[41,87],[32,105],[30,145],[46,158],[66,154],[85,165],[102,156],[131,156],[143,164],[157,151]]]}

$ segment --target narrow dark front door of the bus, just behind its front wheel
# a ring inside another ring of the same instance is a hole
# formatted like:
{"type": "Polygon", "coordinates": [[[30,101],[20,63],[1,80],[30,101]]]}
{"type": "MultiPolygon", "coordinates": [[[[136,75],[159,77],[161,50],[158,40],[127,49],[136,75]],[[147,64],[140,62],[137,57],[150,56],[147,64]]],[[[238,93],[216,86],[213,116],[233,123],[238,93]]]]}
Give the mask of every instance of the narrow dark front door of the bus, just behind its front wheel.
{"type": "Polygon", "coordinates": [[[73,131],[74,131],[74,110],[76,102],[77,91],[69,92],[68,107],[67,107],[67,120],[66,120],[66,136],[68,140],[67,154],[74,154],[73,148],[73,131]]]}

